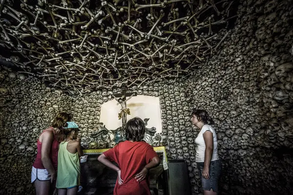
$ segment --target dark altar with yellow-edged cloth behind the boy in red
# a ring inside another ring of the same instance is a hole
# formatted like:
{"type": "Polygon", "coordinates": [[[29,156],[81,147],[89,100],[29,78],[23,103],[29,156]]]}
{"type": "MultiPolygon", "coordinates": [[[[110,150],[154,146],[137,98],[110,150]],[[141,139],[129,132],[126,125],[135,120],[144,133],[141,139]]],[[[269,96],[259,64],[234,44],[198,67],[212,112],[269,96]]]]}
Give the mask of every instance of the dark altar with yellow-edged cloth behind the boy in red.
{"type": "MultiPolygon", "coordinates": [[[[78,195],[113,195],[117,173],[98,161],[98,156],[108,149],[88,149],[87,161],[81,163],[81,185],[83,190],[78,195]]],[[[154,147],[161,158],[161,164],[149,171],[152,195],[167,195],[167,155],[164,146],[154,147]]]]}

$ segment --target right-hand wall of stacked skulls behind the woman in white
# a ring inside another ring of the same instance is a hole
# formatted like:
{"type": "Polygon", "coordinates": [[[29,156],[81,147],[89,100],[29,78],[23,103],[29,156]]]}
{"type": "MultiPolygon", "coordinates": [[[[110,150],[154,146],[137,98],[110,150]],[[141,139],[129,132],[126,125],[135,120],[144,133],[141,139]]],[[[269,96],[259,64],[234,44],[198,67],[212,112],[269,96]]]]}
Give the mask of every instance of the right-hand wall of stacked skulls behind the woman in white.
{"type": "MultiPolygon", "coordinates": [[[[190,107],[215,118],[220,188],[230,195],[292,192],[292,5],[242,0],[235,28],[188,86],[190,107]]],[[[196,164],[188,170],[198,193],[196,164]]]]}

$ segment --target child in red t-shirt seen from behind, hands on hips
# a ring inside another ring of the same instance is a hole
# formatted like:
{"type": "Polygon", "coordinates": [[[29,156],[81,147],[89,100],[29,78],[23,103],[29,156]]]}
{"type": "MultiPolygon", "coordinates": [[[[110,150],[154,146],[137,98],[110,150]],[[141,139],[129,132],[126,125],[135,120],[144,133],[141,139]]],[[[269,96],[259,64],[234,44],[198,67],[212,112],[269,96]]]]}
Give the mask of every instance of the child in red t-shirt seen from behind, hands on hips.
{"type": "Polygon", "coordinates": [[[161,159],[142,139],[146,126],[135,117],[126,123],[126,141],[104,152],[98,160],[117,171],[114,195],[150,195],[148,170],[157,167],[161,159]],[[119,167],[112,164],[115,161],[119,167]]]}

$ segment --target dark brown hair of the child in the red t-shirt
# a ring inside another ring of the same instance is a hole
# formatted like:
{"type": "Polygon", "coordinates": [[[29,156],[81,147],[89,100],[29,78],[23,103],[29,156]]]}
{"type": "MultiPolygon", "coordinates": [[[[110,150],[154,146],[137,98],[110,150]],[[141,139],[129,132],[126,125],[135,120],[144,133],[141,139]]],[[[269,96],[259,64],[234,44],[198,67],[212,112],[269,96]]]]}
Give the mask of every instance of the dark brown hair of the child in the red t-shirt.
{"type": "Polygon", "coordinates": [[[145,132],[145,122],[140,117],[134,117],[126,123],[126,140],[142,141],[145,132]]]}

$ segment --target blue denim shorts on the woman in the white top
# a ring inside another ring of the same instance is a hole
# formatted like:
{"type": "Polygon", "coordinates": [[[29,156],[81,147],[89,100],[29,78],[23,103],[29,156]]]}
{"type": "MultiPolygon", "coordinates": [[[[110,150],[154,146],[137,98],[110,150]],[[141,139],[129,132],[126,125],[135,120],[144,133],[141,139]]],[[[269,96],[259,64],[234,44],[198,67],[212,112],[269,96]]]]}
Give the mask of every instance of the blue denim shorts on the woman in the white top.
{"type": "Polygon", "coordinates": [[[221,173],[221,160],[214,160],[210,161],[209,163],[209,179],[205,179],[202,176],[202,171],[204,169],[204,162],[197,162],[197,167],[198,167],[198,174],[201,177],[202,181],[202,188],[203,190],[208,190],[212,189],[213,192],[218,192],[218,181],[220,178],[220,173],[221,173]]]}

